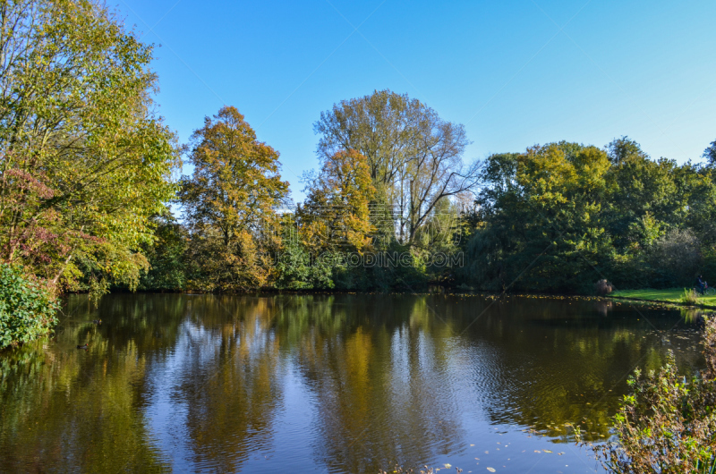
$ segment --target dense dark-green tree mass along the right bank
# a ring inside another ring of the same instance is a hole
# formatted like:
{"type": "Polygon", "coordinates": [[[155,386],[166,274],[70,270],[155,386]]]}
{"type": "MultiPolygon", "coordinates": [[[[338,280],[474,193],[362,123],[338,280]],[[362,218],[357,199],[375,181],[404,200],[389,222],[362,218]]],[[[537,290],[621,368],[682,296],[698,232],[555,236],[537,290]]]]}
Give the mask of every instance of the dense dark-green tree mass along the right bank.
{"type": "Polygon", "coordinates": [[[489,157],[460,279],[483,290],[591,292],[691,284],[716,243],[716,186],[698,165],[551,143],[489,157]]]}

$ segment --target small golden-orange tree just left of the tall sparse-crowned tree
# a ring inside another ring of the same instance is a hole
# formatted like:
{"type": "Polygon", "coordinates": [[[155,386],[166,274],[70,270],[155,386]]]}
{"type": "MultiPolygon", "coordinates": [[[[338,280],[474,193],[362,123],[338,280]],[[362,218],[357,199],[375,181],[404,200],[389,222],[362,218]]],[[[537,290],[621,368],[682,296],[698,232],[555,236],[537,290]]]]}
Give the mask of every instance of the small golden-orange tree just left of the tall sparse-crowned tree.
{"type": "Polygon", "coordinates": [[[296,216],[302,240],[312,251],[360,252],[370,246],[374,226],[369,204],[375,188],[366,157],[352,149],[324,158],[306,191],[308,197],[296,216]]]}

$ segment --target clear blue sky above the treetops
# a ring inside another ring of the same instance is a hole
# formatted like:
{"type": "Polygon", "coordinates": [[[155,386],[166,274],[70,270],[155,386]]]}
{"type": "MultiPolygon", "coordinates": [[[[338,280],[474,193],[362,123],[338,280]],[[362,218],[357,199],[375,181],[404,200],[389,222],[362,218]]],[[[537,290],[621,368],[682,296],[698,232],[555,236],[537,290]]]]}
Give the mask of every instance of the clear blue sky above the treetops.
{"type": "MultiPolygon", "coordinates": [[[[108,2],[112,6],[112,0],[108,2]]],[[[627,135],[703,161],[716,140],[716,2],[661,0],[120,0],[154,43],[159,114],[183,143],[235,106],[303,200],[313,123],[391,89],[463,123],[465,161],[627,135]]],[[[184,173],[191,172],[185,165],[184,173]]]]}

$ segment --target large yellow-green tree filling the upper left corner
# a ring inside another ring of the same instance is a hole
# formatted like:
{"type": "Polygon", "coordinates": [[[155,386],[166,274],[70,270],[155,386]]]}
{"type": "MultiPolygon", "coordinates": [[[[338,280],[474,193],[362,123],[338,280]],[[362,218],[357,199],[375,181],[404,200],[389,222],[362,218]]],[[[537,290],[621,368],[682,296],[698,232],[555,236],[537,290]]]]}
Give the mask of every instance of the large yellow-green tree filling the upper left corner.
{"type": "Polygon", "coordinates": [[[179,164],[152,46],[89,0],[0,2],[0,259],[55,287],[137,283],[179,164]]]}

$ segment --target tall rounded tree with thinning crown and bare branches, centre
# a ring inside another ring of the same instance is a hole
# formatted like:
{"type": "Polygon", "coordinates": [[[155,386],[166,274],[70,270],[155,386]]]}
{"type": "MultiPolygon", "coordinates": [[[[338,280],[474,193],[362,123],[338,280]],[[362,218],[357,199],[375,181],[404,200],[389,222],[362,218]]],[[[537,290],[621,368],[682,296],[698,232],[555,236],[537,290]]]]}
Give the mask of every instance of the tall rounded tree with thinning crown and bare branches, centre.
{"type": "Polygon", "coordinates": [[[344,100],[320,114],[314,131],[320,157],[348,149],[366,157],[374,204],[393,213],[401,242],[413,244],[440,200],[477,184],[477,164],[463,165],[465,127],[407,95],[381,90],[344,100]]]}

